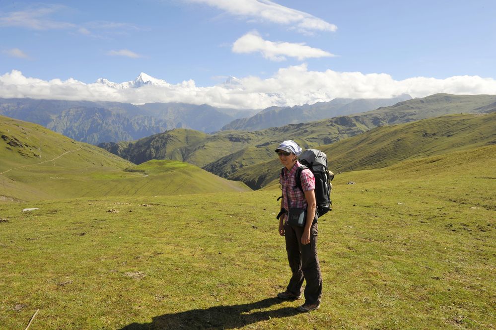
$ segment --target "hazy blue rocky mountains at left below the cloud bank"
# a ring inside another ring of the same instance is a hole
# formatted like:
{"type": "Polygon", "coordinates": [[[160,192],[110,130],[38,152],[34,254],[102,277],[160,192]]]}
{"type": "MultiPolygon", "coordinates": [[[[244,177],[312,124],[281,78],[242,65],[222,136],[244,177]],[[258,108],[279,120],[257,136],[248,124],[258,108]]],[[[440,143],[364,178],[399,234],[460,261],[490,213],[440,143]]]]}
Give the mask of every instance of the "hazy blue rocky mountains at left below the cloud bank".
{"type": "Polygon", "coordinates": [[[0,98],[0,115],[45,126],[77,141],[135,140],[174,128],[214,132],[255,110],[209,105],[62,101],[0,98]]]}

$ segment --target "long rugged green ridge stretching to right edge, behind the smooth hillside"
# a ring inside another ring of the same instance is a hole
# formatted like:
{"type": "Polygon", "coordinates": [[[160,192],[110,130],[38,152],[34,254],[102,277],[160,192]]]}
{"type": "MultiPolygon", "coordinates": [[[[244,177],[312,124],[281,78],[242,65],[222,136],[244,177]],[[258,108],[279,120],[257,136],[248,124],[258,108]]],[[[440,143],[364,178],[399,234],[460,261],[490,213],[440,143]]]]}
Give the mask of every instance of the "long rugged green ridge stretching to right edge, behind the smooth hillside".
{"type": "MultiPolygon", "coordinates": [[[[491,113],[495,110],[494,95],[436,94],[353,116],[338,116],[254,132],[222,131],[205,134],[176,129],[132,142],[103,143],[100,146],[137,164],[150,159],[189,162],[218,176],[241,180],[251,188],[258,189],[263,186],[266,179],[253,178],[256,176],[257,166],[265,161],[274,160],[274,149],[284,139],[294,139],[304,148],[317,147],[330,145],[383,126],[411,123],[449,114],[491,113]],[[251,172],[249,170],[251,166],[254,166],[255,170],[250,174],[252,177],[247,178],[244,173],[251,172]],[[240,171],[241,169],[243,170],[240,171]]],[[[456,131],[456,128],[453,130],[456,131]]],[[[405,147],[411,148],[408,145],[405,147]]],[[[334,155],[331,158],[334,158],[334,155]]],[[[267,171],[264,169],[261,172],[267,171]]]]}

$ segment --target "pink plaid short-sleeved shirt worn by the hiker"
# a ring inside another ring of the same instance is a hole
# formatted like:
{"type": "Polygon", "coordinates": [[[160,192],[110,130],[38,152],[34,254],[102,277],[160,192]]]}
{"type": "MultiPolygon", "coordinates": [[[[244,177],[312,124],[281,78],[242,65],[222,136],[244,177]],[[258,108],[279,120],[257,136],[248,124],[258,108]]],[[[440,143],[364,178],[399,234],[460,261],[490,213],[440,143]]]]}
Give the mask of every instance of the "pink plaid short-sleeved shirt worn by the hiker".
{"type": "MultiPolygon", "coordinates": [[[[296,187],[296,169],[300,167],[300,162],[296,162],[296,164],[291,168],[291,171],[287,171],[287,169],[283,168],[283,174],[279,178],[279,183],[281,184],[283,190],[283,207],[288,210],[289,207],[307,207],[307,202],[305,199],[305,194],[296,187]],[[289,198],[287,198],[289,197],[289,198]],[[288,199],[290,200],[290,205],[288,205],[288,199]]],[[[301,171],[301,188],[303,191],[315,190],[315,177],[313,176],[312,171],[303,170],[301,171]]]]}

